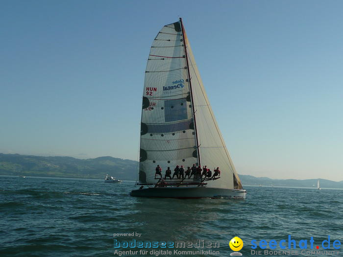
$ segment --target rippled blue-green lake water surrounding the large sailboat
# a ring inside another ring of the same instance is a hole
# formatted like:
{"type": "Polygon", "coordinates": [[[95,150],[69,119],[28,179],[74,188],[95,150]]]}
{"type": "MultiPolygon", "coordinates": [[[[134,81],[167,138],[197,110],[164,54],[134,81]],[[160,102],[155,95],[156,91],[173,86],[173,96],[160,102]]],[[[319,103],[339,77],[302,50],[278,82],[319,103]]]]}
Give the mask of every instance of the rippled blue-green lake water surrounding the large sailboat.
{"type": "MultiPolygon", "coordinates": [[[[243,256],[251,256],[254,239],[257,244],[263,239],[285,239],[288,244],[291,235],[297,244],[307,240],[310,248],[313,236],[319,251],[328,235],[331,251],[333,241],[343,241],[343,190],[246,186],[245,200],[219,200],[134,198],[129,196],[133,187],[129,181],[111,185],[103,180],[0,176],[0,256],[118,256],[114,239],[122,244],[133,239],[204,240],[220,247],[178,250],[219,251],[219,256],[230,256],[234,236],[244,242],[243,256]],[[114,237],[118,233],[141,236],[114,237]]],[[[131,250],[141,256],[139,248],[131,250]]],[[[172,256],[218,256],[174,255],[169,250],[172,256]]],[[[291,256],[310,256],[301,250],[297,245],[298,253],[291,256]]],[[[343,250],[314,256],[343,256],[343,250]]]]}

